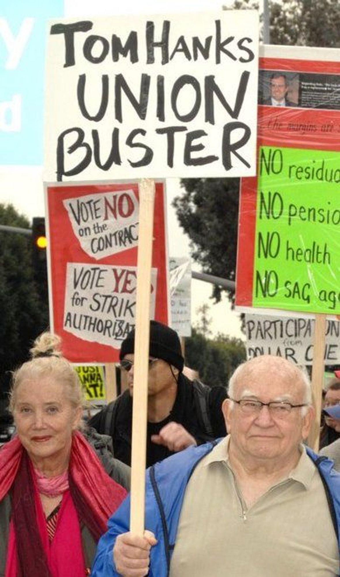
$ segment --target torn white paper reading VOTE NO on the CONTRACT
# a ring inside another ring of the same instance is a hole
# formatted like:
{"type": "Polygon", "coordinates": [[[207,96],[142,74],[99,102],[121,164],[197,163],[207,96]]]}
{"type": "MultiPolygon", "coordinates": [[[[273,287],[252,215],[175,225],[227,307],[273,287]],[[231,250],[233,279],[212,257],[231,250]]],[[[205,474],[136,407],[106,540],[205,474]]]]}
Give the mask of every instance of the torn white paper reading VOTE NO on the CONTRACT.
{"type": "Polygon", "coordinates": [[[90,257],[99,260],[138,246],[139,203],[133,190],[67,198],[63,205],[90,257]]]}

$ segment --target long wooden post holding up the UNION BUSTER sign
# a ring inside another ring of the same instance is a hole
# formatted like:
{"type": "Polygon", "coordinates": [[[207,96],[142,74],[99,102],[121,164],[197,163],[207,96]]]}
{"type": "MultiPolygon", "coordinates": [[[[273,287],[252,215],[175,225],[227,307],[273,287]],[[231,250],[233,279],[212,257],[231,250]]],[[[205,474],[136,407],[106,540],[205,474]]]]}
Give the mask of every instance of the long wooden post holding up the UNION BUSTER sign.
{"type": "Polygon", "coordinates": [[[139,183],[139,233],[134,345],[130,509],[130,531],[141,536],[144,533],[145,511],[146,426],[148,410],[150,285],[154,192],[154,181],[150,179],[142,179],[139,183]]]}

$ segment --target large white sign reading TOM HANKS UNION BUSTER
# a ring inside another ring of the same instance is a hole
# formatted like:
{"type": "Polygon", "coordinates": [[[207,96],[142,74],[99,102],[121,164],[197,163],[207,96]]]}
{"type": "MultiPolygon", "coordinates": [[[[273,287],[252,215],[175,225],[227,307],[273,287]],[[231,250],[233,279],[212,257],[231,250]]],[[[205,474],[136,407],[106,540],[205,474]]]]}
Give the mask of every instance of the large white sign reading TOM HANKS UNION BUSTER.
{"type": "Polygon", "coordinates": [[[44,177],[256,173],[258,13],[50,21],[44,177]]]}

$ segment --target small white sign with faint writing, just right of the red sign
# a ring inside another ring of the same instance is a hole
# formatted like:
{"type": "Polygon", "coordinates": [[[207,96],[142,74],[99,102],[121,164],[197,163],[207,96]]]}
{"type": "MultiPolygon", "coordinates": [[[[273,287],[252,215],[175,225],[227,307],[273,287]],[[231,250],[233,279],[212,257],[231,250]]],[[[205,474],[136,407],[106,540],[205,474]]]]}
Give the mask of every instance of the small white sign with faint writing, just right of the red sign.
{"type": "Polygon", "coordinates": [[[169,269],[171,327],[179,336],[191,336],[191,261],[170,258],[169,269]]]}

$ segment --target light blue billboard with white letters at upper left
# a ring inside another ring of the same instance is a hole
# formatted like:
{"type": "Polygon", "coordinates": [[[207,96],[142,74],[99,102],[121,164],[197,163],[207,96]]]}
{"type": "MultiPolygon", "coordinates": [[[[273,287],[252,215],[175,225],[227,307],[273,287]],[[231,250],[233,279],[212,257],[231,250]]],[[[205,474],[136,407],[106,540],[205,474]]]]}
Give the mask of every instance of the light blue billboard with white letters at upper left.
{"type": "Polygon", "coordinates": [[[0,165],[43,164],[48,18],[63,0],[0,0],[0,165]]]}

